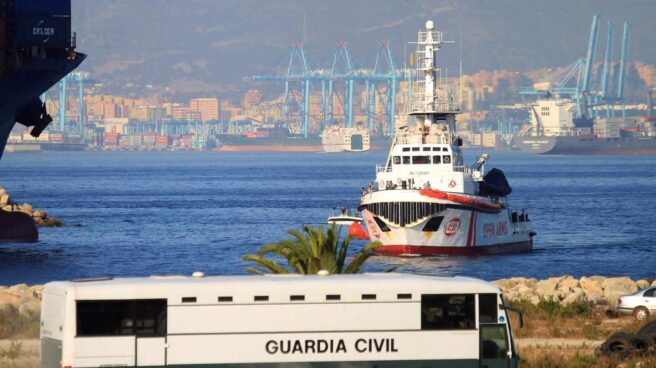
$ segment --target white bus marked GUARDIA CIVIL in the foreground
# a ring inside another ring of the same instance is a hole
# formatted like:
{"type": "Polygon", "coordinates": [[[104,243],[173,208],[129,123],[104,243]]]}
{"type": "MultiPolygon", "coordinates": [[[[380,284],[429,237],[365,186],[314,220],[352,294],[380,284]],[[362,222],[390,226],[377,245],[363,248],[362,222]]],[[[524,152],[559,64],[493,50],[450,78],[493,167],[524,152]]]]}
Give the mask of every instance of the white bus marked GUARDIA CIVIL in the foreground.
{"type": "Polygon", "coordinates": [[[516,367],[499,288],[464,277],[51,282],[41,367],[516,367]]]}

